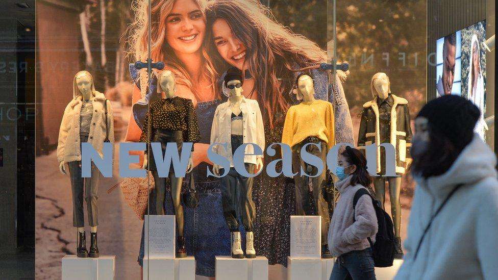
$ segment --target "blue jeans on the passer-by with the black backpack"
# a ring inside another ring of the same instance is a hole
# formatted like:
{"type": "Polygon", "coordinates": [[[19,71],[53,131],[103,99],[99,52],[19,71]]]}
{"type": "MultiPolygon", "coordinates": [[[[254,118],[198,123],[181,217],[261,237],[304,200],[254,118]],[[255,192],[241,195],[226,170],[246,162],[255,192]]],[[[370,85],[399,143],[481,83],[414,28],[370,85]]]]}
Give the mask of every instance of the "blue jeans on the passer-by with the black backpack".
{"type": "Polygon", "coordinates": [[[330,280],[375,280],[374,257],[371,248],[351,251],[339,256],[330,280]]]}

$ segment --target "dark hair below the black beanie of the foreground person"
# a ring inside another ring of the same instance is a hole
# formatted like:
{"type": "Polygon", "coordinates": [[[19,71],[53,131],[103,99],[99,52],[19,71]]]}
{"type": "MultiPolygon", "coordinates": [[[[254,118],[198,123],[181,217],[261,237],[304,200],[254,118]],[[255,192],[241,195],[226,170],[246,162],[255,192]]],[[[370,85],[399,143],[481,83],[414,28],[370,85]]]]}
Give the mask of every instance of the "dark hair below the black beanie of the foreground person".
{"type": "Polygon", "coordinates": [[[429,144],[423,155],[414,156],[410,171],[424,178],[444,174],[460,155],[450,138],[428,123],[429,144]]]}

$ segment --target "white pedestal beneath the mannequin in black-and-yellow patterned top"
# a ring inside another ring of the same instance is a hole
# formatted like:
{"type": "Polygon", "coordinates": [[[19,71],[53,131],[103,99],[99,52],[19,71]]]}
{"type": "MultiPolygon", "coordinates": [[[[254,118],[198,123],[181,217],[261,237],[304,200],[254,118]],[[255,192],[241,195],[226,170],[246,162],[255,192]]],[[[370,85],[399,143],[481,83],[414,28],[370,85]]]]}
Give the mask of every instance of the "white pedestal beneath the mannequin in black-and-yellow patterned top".
{"type": "Polygon", "coordinates": [[[178,259],[143,259],[143,279],[195,280],[194,257],[178,259]]]}

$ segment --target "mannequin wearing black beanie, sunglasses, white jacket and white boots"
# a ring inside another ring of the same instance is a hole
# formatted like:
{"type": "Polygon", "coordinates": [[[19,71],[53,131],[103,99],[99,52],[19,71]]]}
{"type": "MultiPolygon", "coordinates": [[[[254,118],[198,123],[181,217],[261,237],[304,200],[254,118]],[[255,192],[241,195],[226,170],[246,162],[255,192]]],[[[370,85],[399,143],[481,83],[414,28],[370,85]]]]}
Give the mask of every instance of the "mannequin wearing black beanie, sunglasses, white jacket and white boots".
{"type": "MultiPolygon", "coordinates": [[[[245,143],[254,143],[263,150],[265,146],[263,118],[258,101],[246,99],[242,95],[242,81],[240,70],[230,68],[227,71],[225,85],[229,90],[229,99],[216,108],[211,129],[211,144],[228,144],[226,151],[219,145],[215,145],[213,150],[221,155],[225,151],[227,155],[223,156],[230,159],[230,170],[226,176],[220,178],[220,187],[223,215],[225,215],[232,237],[231,256],[236,259],[244,257],[237,213],[240,213],[240,219],[246,233],[245,256],[256,258],[253,234],[256,209],[252,198],[253,177],[245,177],[235,170],[233,153],[245,143]]],[[[253,146],[247,145],[244,154],[254,154],[253,146]]],[[[244,165],[248,173],[258,173],[263,168],[263,156],[245,156],[244,165]]],[[[213,172],[220,175],[225,170],[215,164],[213,172]]]]}

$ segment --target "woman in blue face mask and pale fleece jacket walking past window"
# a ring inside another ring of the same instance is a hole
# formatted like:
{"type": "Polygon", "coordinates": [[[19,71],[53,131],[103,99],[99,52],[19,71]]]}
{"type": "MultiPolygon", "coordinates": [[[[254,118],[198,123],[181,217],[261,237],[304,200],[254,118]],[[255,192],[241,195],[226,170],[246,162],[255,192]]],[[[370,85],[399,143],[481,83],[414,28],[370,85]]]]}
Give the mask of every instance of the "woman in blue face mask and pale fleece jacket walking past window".
{"type": "Polygon", "coordinates": [[[358,149],[346,147],[339,155],[336,168],[340,192],[329,228],[329,249],[337,257],[331,280],[375,279],[374,257],[370,242],[375,243],[377,216],[368,195],[362,195],[353,207],[356,192],[367,189],[371,177],[366,170],[366,159],[358,149]]]}

